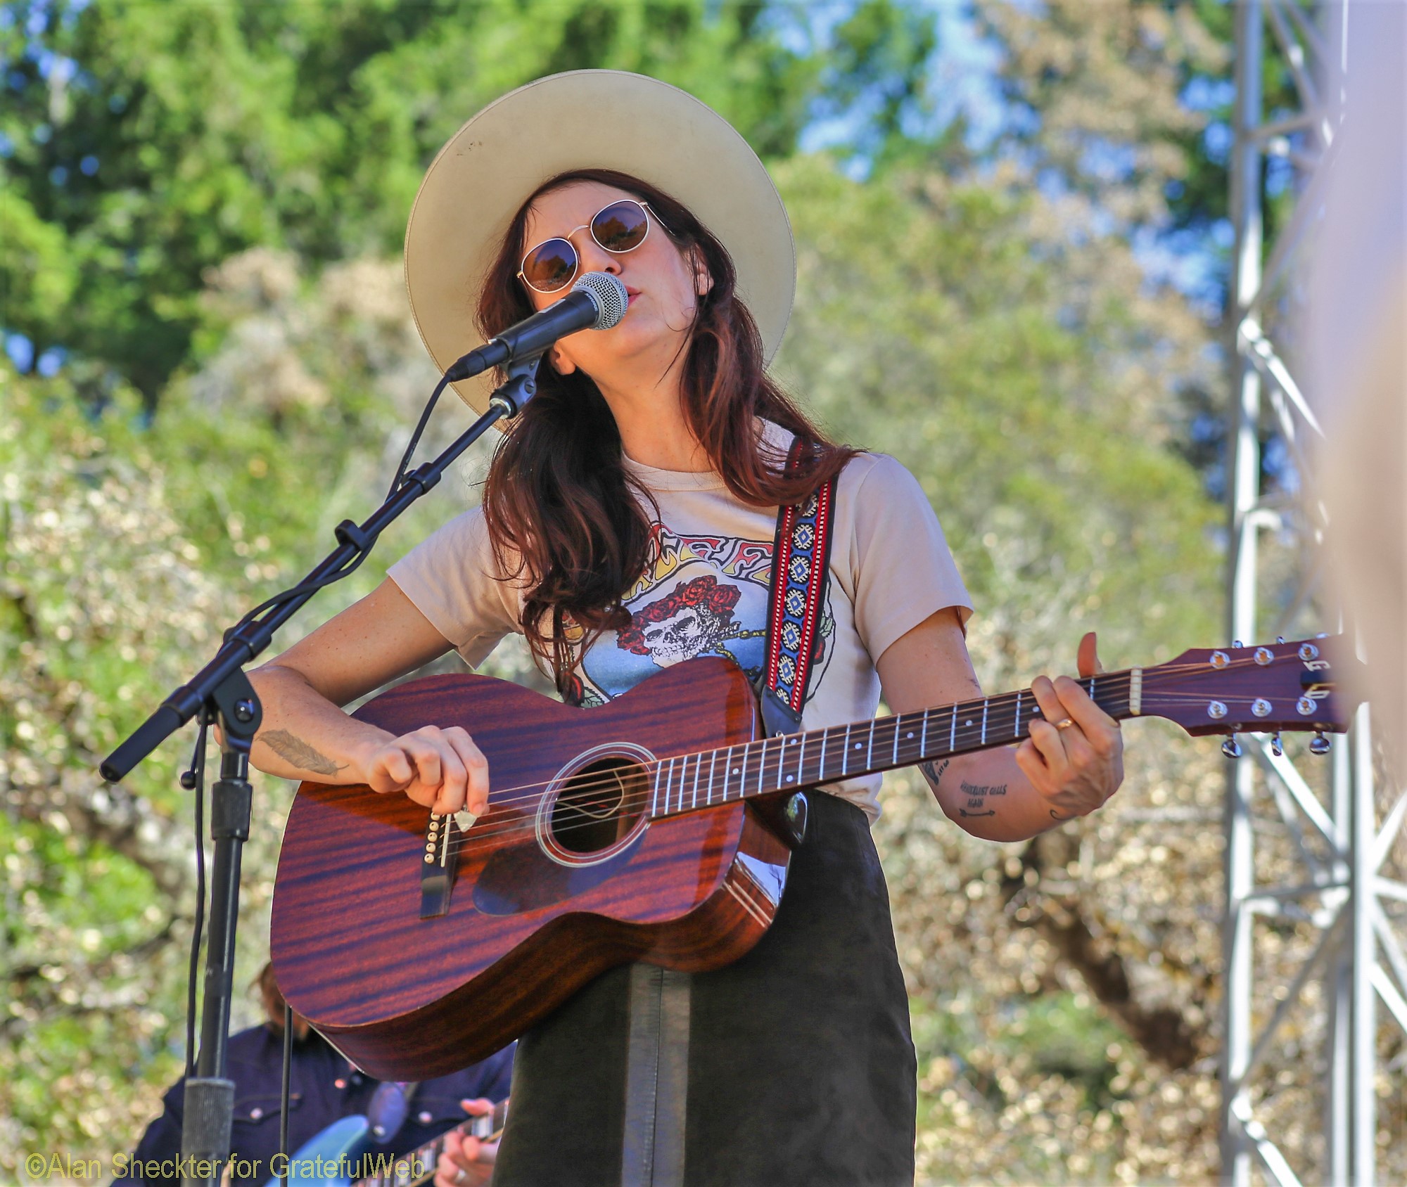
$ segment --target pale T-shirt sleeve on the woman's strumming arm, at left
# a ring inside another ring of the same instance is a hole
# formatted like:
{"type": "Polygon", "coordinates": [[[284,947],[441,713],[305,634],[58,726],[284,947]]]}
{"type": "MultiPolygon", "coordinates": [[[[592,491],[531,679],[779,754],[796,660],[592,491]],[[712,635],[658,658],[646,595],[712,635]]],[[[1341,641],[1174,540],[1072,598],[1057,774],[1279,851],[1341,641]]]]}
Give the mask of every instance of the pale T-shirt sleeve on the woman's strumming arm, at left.
{"type": "Polygon", "coordinates": [[[470,667],[519,629],[519,586],[497,574],[480,508],[454,516],[387,570],[470,667]]]}

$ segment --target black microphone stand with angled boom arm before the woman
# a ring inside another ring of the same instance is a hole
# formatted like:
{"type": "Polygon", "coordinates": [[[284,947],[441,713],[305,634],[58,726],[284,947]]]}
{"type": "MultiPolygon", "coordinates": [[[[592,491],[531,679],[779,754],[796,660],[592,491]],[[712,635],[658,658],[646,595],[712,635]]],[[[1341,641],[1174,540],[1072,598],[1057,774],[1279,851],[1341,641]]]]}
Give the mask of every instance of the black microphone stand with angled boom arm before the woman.
{"type": "MultiPolygon", "coordinates": [[[[203,724],[218,721],[221,730],[219,779],[211,789],[211,838],[215,842],[211,873],[210,944],[205,955],[205,996],[201,1007],[200,1055],[196,1074],[186,1082],[186,1115],[182,1124],[182,1177],[187,1187],[215,1187],[229,1157],[235,1084],[225,1074],[229,1042],[229,1007],[234,996],[235,925],[239,921],[239,866],[249,838],[252,788],[249,750],[263,720],[263,707],[243,667],[260,655],[274,631],[319,589],[340,581],[370,554],[377,537],[416,499],[429,492],[445,471],[495,421],[516,416],[536,394],[542,354],[512,361],[507,381],[494,391],[488,411],[433,461],[405,475],[363,523],[343,519],[335,529],[338,547],[297,585],[270,598],[225,633],[215,658],[189,684],[177,688],[100,765],[103,778],[117,782],[146,758],[166,737],[196,716],[203,724]]],[[[443,390],[446,380],[440,381],[443,390]]],[[[200,771],[203,764],[196,764],[200,771]]],[[[187,790],[203,795],[198,775],[183,778],[187,790]]],[[[287,1017],[287,1014],[286,1014],[287,1017]]],[[[284,1152],[287,1153],[287,1152],[284,1152]]]]}

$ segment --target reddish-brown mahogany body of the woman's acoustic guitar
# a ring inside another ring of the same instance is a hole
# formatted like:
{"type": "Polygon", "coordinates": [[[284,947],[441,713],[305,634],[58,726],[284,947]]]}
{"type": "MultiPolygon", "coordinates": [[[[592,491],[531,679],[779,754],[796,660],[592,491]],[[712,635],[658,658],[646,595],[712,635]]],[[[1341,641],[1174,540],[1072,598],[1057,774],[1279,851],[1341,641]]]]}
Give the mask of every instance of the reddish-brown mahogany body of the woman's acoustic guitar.
{"type": "Polygon", "coordinates": [[[395,734],[461,726],[491,785],[490,811],[459,840],[449,910],[429,918],[429,809],[364,785],[298,788],[274,973],[293,1008],[373,1076],[447,1074],[615,965],[722,968],[772,921],[791,851],[765,802],[643,810],[639,764],[758,736],[757,699],[727,660],[667,668],[587,710],[488,676],[431,676],[356,717],[395,734]]]}

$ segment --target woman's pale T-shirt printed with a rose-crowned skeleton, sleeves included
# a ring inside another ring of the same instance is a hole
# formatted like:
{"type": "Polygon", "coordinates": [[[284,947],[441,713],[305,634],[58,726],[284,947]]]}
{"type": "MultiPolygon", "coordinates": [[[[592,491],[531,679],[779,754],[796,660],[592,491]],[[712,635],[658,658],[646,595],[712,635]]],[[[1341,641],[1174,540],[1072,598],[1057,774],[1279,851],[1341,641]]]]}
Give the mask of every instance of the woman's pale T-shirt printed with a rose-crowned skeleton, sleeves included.
{"type": "MultiPolygon", "coordinates": [[[[785,458],[792,435],[765,422],[768,454],[785,458]]],[[[585,706],[635,688],[661,668],[722,655],[756,682],[764,664],[777,508],[749,506],[713,473],[625,466],[658,505],[649,563],[625,595],[630,624],[606,630],[577,667],[585,706]]],[[[480,508],[428,536],[390,568],[391,579],[470,667],[509,633],[522,633],[523,586],[499,581],[480,508]]],[[[972,612],[937,516],[913,475],[886,454],[862,453],[840,474],[830,582],[820,617],[802,729],[870,720],[879,705],[875,661],[930,615],[972,612]]],[[[580,639],[580,633],[578,633],[580,639]]],[[[825,790],[879,816],[879,776],[825,790]]]]}

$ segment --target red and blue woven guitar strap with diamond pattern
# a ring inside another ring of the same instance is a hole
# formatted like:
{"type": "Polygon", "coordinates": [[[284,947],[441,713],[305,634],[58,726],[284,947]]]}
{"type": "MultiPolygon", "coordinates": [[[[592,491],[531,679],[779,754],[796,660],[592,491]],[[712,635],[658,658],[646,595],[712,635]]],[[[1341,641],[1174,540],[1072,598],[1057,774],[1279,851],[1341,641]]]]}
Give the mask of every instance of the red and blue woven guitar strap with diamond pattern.
{"type": "MultiPolygon", "coordinates": [[[[792,442],[787,473],[795,474],[809,463],[809,454],[806,442],[792,442]]],[[[834,515],[834,478],[799,506],[784,506],[777,512],[763,685],[763,724],[768,736],[801,729],[812,660],[823,646],[820,616],[830,578],[830,525],[834,515]]]]}

